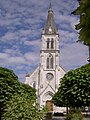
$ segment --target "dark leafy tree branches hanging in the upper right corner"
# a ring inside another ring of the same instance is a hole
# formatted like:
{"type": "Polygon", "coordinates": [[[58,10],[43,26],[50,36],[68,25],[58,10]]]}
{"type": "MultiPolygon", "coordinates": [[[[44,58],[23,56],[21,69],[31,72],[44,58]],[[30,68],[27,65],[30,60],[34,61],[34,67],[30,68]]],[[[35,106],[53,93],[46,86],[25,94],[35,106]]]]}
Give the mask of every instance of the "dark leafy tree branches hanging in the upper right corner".
{"type": "Polygon", "coordinates": [[[90,63],[90,0],[78,0],[79,7],[72,12],[74,15],[80,15],[80,23],[76,25],[76,30],[79,31],[79,41],[89,46],[90,63]]]}

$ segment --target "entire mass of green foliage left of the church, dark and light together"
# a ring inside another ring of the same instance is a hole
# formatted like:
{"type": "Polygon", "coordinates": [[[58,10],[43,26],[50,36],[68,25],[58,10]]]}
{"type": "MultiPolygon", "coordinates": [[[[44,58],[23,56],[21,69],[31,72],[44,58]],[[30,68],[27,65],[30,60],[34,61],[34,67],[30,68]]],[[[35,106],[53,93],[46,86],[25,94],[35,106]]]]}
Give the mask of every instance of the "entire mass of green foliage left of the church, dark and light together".
{"type": "Polygon", "coordinates": [[[20,83],[12,70],[0,67],[0,113],[5,120],[41,120],[46,112],[36,104],[36,90],[20,83]]]}

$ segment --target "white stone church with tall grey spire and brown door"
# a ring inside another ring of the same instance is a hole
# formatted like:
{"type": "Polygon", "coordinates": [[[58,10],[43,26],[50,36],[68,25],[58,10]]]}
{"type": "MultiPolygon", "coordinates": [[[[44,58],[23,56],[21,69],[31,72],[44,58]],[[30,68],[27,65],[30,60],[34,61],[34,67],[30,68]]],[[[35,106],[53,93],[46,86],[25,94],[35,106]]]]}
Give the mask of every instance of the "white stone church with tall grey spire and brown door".
{"type": "Polygon", "coordinates": [[[50,3],[46,24],[41,33],[40,64],[34,72],[26,75],[25,80],[25,84],[36,89],[40,107],[47,105],[50,111],[57,109],[52,103],[52,97],[59,88],[60,78],[65,74],[59,58],[59,33],[50,3]]]}

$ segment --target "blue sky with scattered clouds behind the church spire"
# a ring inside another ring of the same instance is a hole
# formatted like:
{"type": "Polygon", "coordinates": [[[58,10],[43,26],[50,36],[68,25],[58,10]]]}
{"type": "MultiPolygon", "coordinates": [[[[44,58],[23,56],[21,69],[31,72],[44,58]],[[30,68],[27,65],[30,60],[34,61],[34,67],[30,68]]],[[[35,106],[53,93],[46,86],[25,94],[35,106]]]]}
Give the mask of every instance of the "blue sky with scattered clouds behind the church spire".
{"type": "MultiPolygon", "coordinates": [[[[40,63],[41,33],[50,0],[0,0],[0,67],[12,69],[21,82],[40,63]]],[[[60,39],[60,66],[68,72],[87,64],[88,48],[78,40],[72,15],[77,0],[52,0],[60,39]]]]}

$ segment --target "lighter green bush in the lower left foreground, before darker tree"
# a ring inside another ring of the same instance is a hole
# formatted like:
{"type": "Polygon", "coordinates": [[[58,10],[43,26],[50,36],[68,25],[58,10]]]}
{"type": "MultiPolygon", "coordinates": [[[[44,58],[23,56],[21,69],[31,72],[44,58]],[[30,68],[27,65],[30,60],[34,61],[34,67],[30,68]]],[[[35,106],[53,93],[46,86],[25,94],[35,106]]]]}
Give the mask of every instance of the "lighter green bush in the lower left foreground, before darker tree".
{"type": "Polygon", "coordinates": [[[45,109],[39,110],[39,105],[27,98],[25,94],[16,94],[10,101],[7,101],[4,118],[6,120],[41,120],[44,117],[45,109]]]}

